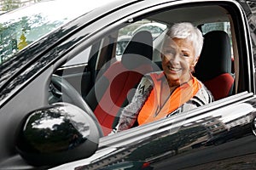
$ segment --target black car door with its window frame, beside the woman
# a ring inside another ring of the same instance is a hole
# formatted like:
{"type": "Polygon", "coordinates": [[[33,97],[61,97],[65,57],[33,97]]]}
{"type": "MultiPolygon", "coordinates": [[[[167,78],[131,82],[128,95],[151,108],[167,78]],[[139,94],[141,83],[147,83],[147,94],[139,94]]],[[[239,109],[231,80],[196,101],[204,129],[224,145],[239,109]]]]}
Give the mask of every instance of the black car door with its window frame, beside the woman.
{"type": "MultiPolygon", "coordinates": [[[[231,25],[228,28],[228,33],[231,35],[231,50],[234,54],[233,73],[236,77],[234,93],[210,105],[185,112],[183,115],[172,116],[103,137],[95,156],[71,163],[70,166],[79,163],[78,169],[169,169],[170,167],[174,169],[194,167],[196,169],[205,165],[224,168],[225,166],[232,167],[234,162],[241,159],[251,160],[248,162],[248,166],[252,167],[255,154],[253,151],[255,150],[255,138],[252,128],[255,117],[252,82],[254,78],[251,74],[253,63],[250,62],[252,61],[252,48],[249,45],[251,43],[247,32],[247,19],[243,15],[241,6],[236,2],[225,1],[220,3],[166,2],[151,8],[155,15],[148,14],[150,11],[148,8],[143,10],[143,5],[137,6],[137,8],[141,8],[140,13],[127,17],[131,23],[133,20],[137,21],[137,17],[143,18],[143,14],[147,19],[160,20],[165,13],[171,12],[168,16],[175,16],[175,19],[170,17],[169,25],[172,25],[172,22],[194,20],[194,24],[198,26],[208,24],[205,21],[207,19],[201,18],[202,23],[197,23],[201,21],[190,18],[193,12],[200,16],[207,16],[205,15],[206,11],[211,11],[213,14],[213,9],[221,8],[220,15],[218,12],[215,13],[218,20],[209,20],[218,23],[219,20],[226,21],[228,19],[231,25]],[[200,7],[195,8],[195,6],[200,7]],[[226,12],[222,14],[223,9],[226,12]],[[234,14],[237,13],[239,15],[235,16],[234,14]],[[240,29],[242,31],[238,31],[240,29]],[[243,42],[246,42],[247,46],[244,46],[243,42]],[[244,67],[247,69],[241,69],[244,67]],[[241,145],[243,147],[240,147],[241,145]]],[[[155,50],[160,51],[160,49],[155,50]]],[[[154,61],[157,63],[159,60],[155,59],[154,61]]],[[[244,161],[241,161],[236,166],[243,167],[245,166],[243,163],[244,161]]]]}

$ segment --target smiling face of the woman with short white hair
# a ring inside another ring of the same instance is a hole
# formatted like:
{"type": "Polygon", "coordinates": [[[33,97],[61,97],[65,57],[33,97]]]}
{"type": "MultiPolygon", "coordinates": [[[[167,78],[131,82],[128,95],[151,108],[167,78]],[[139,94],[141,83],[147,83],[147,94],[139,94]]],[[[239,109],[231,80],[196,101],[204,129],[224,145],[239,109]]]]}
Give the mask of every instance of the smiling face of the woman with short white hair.
{"type": "Polygon", "coordinates": [[[183,38],[167,38],[162,50],[162,67],[169,85],[188,82],[198,59],[192,42],[183,38]]]}

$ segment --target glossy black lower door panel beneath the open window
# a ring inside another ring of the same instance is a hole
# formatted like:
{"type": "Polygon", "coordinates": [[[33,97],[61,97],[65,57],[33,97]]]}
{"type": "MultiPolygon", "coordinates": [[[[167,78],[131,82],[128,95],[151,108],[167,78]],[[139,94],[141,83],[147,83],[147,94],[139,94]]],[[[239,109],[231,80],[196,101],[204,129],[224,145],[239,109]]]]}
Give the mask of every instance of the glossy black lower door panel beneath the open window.
{"type": "MultiPolygon", "coordinates": [[[[256,139],[252,133],[252,124],[247,123],[252,122],[256,116],[252,105],[255,98],[252,94],[246,95],[248,99],[244,103],[230,105],[228,108],[206,111],[206,114],[188,112],[186,116],[155,122],[141,129],[136,127],[113,138],[104,137],[95,156],[52,169],[61,169],[65,166],[71,168],[78,164],[81,166],[76,169],[115,169],[115,165],[124,160],[147,162],[154,169],[183,169],[208,162],[212,162],[216,167],[216,162],[233,157],[253,158],[253,142],[256,139]],[[227,112],[230,114],[226,114],[227,112]],[[236,113],[239,113],[239,116],[236,113]],[[207,128],[210,127],[207,122],[222,122],[224,128],[207,128]],[[243,150],[241,147],[235,150],[238,145],[243,145],[243,150]]],[[[249,163],[252,167],[253,161],[249,163]]],[[[131,163],[131,169],[136,169],[133,166],[131,163]]]]}

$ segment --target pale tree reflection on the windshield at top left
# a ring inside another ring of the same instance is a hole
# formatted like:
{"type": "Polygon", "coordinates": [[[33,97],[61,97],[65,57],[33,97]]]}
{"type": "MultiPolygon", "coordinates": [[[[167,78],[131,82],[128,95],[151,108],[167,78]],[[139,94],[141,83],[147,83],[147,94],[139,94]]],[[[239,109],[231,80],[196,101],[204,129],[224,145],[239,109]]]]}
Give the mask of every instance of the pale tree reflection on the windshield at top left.
{"type": "Polygon", "coordinates": [[[19,50],[17,43],[22,35],[26,37],[26,42],[29,44],[61,24],[61,21],[50,22],[49,19],[40,14],[25,16],[2,23],[0,25],[1,62],[9,59],[19,50]]]}

